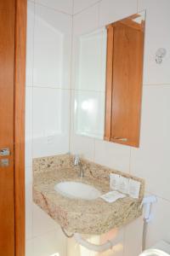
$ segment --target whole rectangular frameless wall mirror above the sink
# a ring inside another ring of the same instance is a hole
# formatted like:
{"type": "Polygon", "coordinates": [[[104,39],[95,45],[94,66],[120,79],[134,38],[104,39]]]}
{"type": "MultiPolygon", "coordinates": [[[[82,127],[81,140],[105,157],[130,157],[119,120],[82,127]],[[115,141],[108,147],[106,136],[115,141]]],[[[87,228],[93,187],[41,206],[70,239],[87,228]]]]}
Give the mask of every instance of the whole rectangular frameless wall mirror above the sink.
{"type": "Polygon", "coordinates": [[[145,11],[76,38],[76,134],[139,147],[145,11]]]}

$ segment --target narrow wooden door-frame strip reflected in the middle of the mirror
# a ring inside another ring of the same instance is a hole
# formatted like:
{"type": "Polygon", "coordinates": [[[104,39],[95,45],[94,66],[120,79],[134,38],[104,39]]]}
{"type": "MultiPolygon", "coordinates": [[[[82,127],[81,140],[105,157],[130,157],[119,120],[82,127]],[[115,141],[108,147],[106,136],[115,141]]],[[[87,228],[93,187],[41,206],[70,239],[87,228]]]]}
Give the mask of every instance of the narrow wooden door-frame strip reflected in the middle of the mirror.
{"type": "Polygon", "coordinates": [[[107,62],[105,84],[105,140],[111,139],[111,108],[113,81],[113,26],[107,26],[107,62]]]}

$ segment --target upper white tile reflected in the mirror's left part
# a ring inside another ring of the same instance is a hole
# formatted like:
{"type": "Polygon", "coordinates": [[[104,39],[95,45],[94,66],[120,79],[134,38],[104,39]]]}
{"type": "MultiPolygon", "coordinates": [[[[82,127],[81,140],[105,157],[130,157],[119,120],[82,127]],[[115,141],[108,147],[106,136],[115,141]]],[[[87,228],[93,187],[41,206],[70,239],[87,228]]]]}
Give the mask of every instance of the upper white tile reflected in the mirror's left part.
{"type": "Polygon", "coordinates": [[[77,36],[74,44],[75,88],[105,91],[106,29],[77,36]]]}

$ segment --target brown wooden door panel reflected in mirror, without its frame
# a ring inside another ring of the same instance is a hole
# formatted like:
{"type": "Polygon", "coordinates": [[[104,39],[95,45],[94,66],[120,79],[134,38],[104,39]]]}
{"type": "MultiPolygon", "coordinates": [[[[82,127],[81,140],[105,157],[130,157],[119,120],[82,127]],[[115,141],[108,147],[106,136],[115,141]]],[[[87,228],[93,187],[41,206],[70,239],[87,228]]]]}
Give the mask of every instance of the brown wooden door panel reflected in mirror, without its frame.
{"type": "Polygon", "coordinates": [[[139,147],[144,32],[114,23],[111,142],[139,147]]]}

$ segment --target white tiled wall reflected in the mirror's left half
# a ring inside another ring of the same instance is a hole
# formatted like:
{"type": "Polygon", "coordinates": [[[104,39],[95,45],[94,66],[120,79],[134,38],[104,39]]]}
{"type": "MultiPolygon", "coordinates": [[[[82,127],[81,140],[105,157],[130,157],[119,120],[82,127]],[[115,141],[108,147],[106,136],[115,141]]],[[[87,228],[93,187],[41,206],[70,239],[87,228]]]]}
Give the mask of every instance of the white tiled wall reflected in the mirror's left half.
{"type": "Polygon", "coordinates": [[[88,137],[104,137],[106,42],[105,28],[77,39],[75,129],[88,137]]]}

